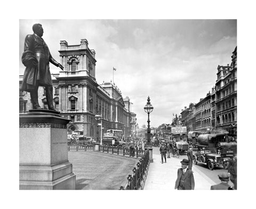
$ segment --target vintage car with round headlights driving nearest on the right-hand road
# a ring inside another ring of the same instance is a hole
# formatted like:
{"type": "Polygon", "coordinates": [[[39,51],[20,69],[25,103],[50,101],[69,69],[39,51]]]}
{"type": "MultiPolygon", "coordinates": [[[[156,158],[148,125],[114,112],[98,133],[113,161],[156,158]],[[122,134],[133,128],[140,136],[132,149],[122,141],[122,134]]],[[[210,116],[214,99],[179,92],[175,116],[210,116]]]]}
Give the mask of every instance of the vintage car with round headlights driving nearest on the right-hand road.
{"type": "Polygon", "coordinates": [[[206,164],[210,170],[213,170],[216,166],[222,165],[221,156],[216,153],[214,148],[201,151],[198,150],[198,152],[193,155],[193,161],[195,165],[198,162],[206,164]]]}

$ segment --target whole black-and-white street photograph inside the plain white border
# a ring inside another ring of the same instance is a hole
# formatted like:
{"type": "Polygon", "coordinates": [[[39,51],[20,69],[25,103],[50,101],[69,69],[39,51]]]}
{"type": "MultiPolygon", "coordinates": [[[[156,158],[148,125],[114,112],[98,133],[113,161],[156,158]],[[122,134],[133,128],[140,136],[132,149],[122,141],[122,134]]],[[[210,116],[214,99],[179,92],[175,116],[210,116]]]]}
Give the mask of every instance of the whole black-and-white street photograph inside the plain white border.
{"type": "Polygon", "coordinates": [[[237,189],[237,20],[20,20],[19,102],[20,189],[237,189]]]}

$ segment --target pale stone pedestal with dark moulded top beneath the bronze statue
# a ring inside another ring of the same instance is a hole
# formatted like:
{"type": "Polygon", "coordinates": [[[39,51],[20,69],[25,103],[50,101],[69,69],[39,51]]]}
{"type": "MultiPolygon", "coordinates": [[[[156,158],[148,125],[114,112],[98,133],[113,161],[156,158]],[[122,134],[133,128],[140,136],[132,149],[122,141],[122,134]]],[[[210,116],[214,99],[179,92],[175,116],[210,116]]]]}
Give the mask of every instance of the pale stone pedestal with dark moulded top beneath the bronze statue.
{"type": "Polygon", "coordinates": [[[20,114],[20,189],[75,189],[67,123],[51,110],[20,114]]]}

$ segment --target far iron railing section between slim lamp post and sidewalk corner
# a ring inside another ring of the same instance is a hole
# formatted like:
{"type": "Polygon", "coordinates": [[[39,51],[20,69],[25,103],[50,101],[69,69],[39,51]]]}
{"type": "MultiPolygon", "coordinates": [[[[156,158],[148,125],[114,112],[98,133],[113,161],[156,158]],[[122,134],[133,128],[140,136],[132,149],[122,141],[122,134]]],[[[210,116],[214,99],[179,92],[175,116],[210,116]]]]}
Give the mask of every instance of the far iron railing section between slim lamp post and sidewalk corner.
{"type": "Polygon", "coordinates": [[[136,147],[134,150],[132,150],[127,147],[112,146],[112,145],[107,145],[107,144],[100,145],[99,151],[110,153],[110,154],[116,154],[116,155],[136,157],[136,158],[142,157],[142,155],[145,154],[145,150],[138,149],[138,147],[136,147]]]}

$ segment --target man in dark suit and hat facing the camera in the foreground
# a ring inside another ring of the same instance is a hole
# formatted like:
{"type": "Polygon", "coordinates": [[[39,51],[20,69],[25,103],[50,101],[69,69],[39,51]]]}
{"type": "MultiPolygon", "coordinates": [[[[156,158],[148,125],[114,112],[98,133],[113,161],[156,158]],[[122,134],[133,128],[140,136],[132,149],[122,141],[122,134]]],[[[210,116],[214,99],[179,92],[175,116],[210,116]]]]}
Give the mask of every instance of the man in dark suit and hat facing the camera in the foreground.
{"type": "Polygon", "coordinates": [[[194,190],[195,180],[191,170],[188,169],[188,160],[182,159],[181,168],[178,169],[178,177],[175,182],[175,188],[178,190],[194,190]]]}

